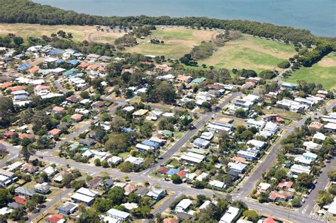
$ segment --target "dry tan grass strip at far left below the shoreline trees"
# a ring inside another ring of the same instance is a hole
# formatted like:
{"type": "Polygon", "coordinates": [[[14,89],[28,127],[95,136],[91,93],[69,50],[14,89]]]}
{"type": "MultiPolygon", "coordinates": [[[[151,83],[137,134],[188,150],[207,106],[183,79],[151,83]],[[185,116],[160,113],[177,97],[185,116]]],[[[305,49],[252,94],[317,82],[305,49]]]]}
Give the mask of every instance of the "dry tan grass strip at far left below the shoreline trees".
{"type": "Polygon", "coordinates": [[[97,31],[96,27],[88,25],[38,25],[38,24],[0,24],[0,35],[9,33],[21,36],[26,40],[28,36],[41,37],[42,35],[50,36],[51,33],[57,33],[63,30],[65,33],[72,33],[75,41],[94,41],[108,42],[113,44],[116,38],[123,36],[125,33],[106,33],[97,31]]]}

